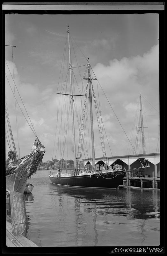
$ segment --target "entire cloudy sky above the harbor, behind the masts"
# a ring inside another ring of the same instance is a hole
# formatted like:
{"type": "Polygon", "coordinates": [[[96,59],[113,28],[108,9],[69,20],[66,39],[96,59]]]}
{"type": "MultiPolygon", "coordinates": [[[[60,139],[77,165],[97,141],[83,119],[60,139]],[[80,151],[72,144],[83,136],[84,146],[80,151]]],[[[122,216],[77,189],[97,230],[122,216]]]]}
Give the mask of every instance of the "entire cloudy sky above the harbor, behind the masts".
{"type": "MultiPolygon", "coordinates": [[[[95,91],[97,92],[98,88],[100,94],[101,114],[107,134],[106,155],[111,156],[111,151],[113,156],[133,153],[127,137],[134,145],[139,118],[137,115],[140,114],[140,93],[143,123],[144,127],[147,127],[144,129],[146,153],[158,152],[158,22],[157,13],[6,14],[5,44],[16,47],[5,46],[5,73],[8,78],[5,81],[5,97],[13,138],[17,150],[20,148],[20,156],[30,153],[35,136],[17,102],[15,103],[10,85],[25,113],[18,97],[18,89],[35,132],[45,146],[43,161],[59,157],[55,155],[55,145],[58,143],[58,137],[55,138],[56,125],[57,118],[60,118],[57,117],[57,106],[60,102],[57,92],[67,26],[74,45],[77,46],[77,56],[80,56],[77,59],[78,66],[86,65],[89,57],[91,68],[100,84],[97,87],[97,82],[93,82],[95,91]],[[13,73],[17,89],[11,78],[13,73]],[[105,95],[102,95],[102,90],[100,92],[101,87],[105,95]]],[[[71,55],[72,53],[71,47],[71,55]]],[[[71,58],[74,67],[77,65],[75,56],[71,58]]],[[[78,83],[80,84],[81,82],[78,83]]],[[[79,101],[77,99],[76,103],[79,101]]],[[[95,157],[101,157],[96,131],[95,128],[95,157]]],[[[78,134],[76,130],[76,137],[78,134]]],[[[71,146],[68,157],[73,159],[70,139],[69,145],[71,146]]],[[[6,141],[6,154],[8,151],[6,141]]]]}

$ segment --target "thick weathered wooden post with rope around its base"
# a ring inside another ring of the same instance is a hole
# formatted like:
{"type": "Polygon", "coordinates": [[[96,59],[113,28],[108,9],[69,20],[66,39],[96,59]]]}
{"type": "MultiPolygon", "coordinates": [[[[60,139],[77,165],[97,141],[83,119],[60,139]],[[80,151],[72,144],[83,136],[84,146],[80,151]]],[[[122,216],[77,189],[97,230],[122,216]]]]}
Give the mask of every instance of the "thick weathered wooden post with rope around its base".
{"type": "Polygon", "coordinates": [[[12,233],[15,236],[26,237],[25,195],[11,191],[10,200],[12,233]]]}

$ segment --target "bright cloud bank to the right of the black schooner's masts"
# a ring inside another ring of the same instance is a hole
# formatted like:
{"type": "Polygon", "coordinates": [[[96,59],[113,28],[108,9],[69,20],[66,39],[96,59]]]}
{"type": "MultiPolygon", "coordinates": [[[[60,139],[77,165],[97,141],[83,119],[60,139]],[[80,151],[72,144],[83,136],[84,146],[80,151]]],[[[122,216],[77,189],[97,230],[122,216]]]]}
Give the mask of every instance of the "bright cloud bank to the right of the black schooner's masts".
{"type": "MultiPolygon", "coordinates": [[[[124,127],[124,130],[127,132],[130,137],[130,132],[133,127],[133,122],[135,119],[135,113],[137,110],[137,104],[139,101],[140,92],[143,97],[154,105],[159,100],[159,45],[153,46],[149,52],[144,53],[143,56],[134,56],[130,58],[122,58],[120,60],[114,59],[109,62],[108,66],[105,66],[101,63],[98,63],[93,71],[97,75],[99,84],[103,86],[103,91],[106,96],[102,96],[100,91],[100,86],[98,85],[99,94],[101,96],[101,111],[102,116],[106,112],[105,102],[107,104],[106,97],[110,102],[111,106],[114,109],[114,112],[119,119],[120,123],[124,127]]],[[[142,99],[143,100],[143,99],[142,99]]],[[[143,100],[144,101],[144,100],[143,100]]],[[[146,111],[150,109],[151,105],[148,102],[146,104],[146,111]]],[[[144,107],[143,107],[144,108],[144,107]]],[[[111,109],[111,108],[110,108],[111,109]]],[[[153,109],[154,110],[154,109],[153,109]]],[[[107,111],[109,109],[107,108],[107,111]]],[[[140,111],[140,108],[139,108],[140,111]]],[[[112,109],[111,112],[113,113],[112,109]]],[[[157,112],[156,112],[157,115],[157,112]]],[[[114,115],[111,120],[114,121],[114,126],[112,125],[109,131],[110,124],[107,124],[107,132],[110,134],[113,133],[115,139],[120,141],[127,140],[126,136],[122,130],[117,126],[119,123],[116,116],[114,115]]],[[[158,125],[159,118],[152,116],[149,120],[149,127],[152,127],[153,120],[155,125],[158,125]]],[[[138,120],[136,120],[138,122],[138,120]]],[[[136,129],[136,128],[135,128],[136,129]]],[[[153,129],[150,129],[150,132],[153,129]]],[[[157,134],[156,134],[157,135],[157,134]]],[[[151,137],[151,135],[150,135],[151,137]]],[[[110,138],[110,137],[109,137],[110,138]]],[[[111,136],[112,138],[112,136],[111,136]]],[[[111,145],[114,143],[112,140],[111,145]]],[[[128,140],[127,140],[128,142],[128,140]]],[[[150,141],[151,143],[151,141],[150,141]]],[[[151,151],[156,150],[155,144],[150,144],[151,151]]],[[[116,152],[119,155],[120,153],[124,154],[126,151],[125,146],[122,145],[121,148],[116,147],[116,152]]]]}

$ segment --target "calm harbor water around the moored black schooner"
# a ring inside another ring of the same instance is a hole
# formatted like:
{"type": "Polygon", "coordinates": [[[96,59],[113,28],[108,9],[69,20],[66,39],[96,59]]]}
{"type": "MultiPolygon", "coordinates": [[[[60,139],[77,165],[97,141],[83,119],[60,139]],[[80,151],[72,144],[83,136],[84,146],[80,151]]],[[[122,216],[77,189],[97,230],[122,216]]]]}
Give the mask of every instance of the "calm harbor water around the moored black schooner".
{"type": "MultiPolygon", "coordinates": [[[[160,191],[72,188],[50,182],[50,171],[28,180],[27,238],[41,247],[158,246],[160,191]]],[[[6,218],[11,222],[10,205],[6,218]]]]}

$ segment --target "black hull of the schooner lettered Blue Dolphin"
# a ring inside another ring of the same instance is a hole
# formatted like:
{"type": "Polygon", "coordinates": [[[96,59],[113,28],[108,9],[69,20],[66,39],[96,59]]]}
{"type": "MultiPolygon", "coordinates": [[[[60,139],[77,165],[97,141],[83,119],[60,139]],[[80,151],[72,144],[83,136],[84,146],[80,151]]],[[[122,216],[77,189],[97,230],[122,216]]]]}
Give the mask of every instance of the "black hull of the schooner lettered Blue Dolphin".
{"type": "Polygon", "coordinates": [[[124,172],[103,172],[92,174],[91,177],[90,174],[69,177],[49,175],[49,179],[53,184],[62,186],[116,189],[122,184],[124,176],[124,172]]]}

